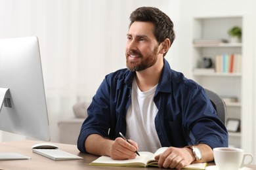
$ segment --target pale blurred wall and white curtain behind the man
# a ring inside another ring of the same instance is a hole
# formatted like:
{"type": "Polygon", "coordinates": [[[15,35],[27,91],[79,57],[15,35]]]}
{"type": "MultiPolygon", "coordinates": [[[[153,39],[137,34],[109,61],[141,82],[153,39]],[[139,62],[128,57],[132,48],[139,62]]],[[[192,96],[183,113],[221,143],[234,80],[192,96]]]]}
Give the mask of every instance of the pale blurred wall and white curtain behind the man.
{"type": "MultiPolygon", "coordinates": [[[[125,67],[129,15],[142,6],[158,7],[173,20],[176,39],[165,58],[188,78],[192,18],[256,16],[253,0],[0,0],[1,39],[39,38],[51,141],[58,142],[58,121],[74,115],[73,105],[90,102],[104,76],[125,67]]],[[[251,39],[256,49],[256,36],[251,39]]],[[[255,143],[255,127],[251,130],[255,143]]],[[[0,131],[0,141],[22,138],[0,131]]]]}

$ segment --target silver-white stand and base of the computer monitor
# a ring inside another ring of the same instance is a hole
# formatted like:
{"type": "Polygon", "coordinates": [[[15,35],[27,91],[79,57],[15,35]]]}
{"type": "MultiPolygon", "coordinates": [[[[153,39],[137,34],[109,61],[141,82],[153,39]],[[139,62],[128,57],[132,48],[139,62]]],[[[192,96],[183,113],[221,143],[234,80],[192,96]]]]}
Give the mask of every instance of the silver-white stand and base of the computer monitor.
{"type": "MultiPolygon", "coordinates": [[[[5,107],[11,107],[10,102],[10,91],[9,88],[0,88],[0,114],[3,105],[5,107]],[[7,97],[8,96],[8,97],[7,97]]],[[[1,153],[0,152],[0,161],[1,160],[30,160],[31,158],[18,153],[1,153]]]]}

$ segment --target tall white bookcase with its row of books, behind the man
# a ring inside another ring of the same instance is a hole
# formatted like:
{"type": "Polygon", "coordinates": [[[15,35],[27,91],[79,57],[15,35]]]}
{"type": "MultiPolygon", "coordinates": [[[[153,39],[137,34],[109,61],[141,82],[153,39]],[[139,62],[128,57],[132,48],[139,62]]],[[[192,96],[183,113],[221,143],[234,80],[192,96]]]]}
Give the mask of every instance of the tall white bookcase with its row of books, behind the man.
{"type": "MultiPolygon", "coordinates": [[[[244,126],[242,121],[242,91],[244,77],[243,74],[245,58],[247,58],[245,46],[247,39],[242,42],[228,42],[228,29],[234,25],[242,27],[244,30],[244,20],[239,17],[217,17],[217,18],[194,18],[194,29],[192,38],[192,76],[198,84],[220,96],[235,96],[239,102],[226,102],[226,119],[235,118],[240,120],[240,126],[244,126]],[[211,41],[212,40],[212,41],[211,41]],[[216,41],[215,41],[216,40],[216,41]],[[230,56],[233,54],[233,71],[228,72],[230,68],[230,56]],[[235,58],[235,55],[236,58],[235,58]],[[205,66],[203,58],[212,59],[211,69],[203,69],[205,66]],[[236,63],[235,60],[236,59],[236,63]],[[228,69],[219,69],[222,67],[228,69]],[[234,69],[236,67],[236,69],[234,69]],[[202,68],[202,69],[201,69],[202,68]],[[227,71],[228,70],[228,71],[227,71]],[[223,72],[225,73],[223,73],[223,72]]],[[[242,132],[228,132],[229,144],[236,147],[242,146],[242,132]]]]}

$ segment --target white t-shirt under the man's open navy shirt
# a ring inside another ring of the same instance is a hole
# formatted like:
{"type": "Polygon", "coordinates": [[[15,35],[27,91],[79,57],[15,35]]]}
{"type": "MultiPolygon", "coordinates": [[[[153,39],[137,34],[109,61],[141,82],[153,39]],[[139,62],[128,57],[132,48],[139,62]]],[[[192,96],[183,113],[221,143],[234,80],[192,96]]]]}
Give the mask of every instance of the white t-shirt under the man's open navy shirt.
{"type": "Polygon", "coordinates": [[[155,126],[158,108],[153,100],[157,86],[146,92],[141,92],[136,79],[133,80],[131,105],[126,115],[126,137],[138,143],[139,151],[154,153],[161,147],[155,126]]]}

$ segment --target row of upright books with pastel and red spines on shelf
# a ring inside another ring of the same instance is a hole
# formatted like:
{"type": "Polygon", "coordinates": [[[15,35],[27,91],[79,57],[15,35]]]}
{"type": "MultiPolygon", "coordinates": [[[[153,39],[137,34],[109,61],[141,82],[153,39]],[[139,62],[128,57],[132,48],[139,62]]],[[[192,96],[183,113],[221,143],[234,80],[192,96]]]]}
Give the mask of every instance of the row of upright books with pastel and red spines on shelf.
{"type": "Polygon", "coordinates": [[[241,73],[242,54],[220,54],[215,56],[217,73],[241,73]]]}

